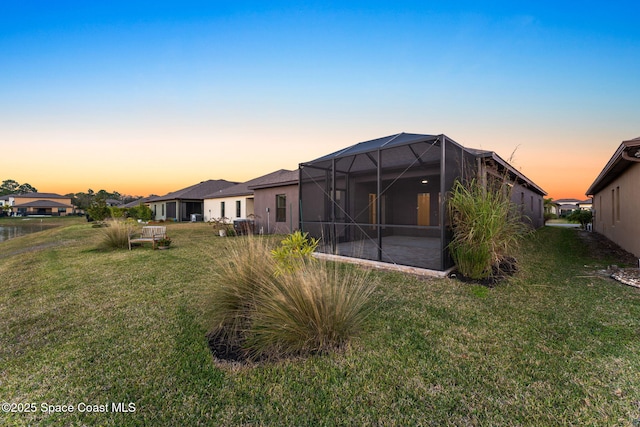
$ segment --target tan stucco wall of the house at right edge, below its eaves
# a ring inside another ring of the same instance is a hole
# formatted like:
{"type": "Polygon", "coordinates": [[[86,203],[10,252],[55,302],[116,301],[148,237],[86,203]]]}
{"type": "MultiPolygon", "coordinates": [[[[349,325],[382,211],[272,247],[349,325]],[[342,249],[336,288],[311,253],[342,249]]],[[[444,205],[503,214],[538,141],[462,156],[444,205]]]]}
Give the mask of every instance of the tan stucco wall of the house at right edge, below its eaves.
{"type": "Polygon", "coordinates": [[[606,188],[594,194],[593,199],[593,229],[637,257],[640,257],[639,183],[640,163],[634,163],[606,188]],[[617,194],[619,203],[614,200],[617,194]]]}

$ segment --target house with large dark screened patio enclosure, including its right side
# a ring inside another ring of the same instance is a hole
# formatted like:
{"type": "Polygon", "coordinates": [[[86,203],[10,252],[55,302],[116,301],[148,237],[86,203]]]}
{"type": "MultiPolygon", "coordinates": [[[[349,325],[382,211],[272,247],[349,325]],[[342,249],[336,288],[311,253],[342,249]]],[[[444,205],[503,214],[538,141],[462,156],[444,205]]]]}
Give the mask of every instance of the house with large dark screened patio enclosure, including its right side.
{"type": "Polygon", "coordinates": [[[457,179],[506,179],[523,220],[544,225],[546,192],[496,153],[446,135],[399,133],[300,164],[300,228],[319,251],[445,271],[447,194],[457,179]]]}

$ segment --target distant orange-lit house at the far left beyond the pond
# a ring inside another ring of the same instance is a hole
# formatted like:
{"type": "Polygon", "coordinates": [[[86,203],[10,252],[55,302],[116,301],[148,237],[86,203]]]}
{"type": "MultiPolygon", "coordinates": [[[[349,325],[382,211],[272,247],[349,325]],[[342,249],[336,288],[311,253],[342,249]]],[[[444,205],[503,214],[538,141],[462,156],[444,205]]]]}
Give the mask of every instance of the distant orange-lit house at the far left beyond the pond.
{"type": "Polygon", "coordinates": [[[55,193],[9,194],[3,196],[2,204],[15,216],[65,216],[75,212],[71,197],[55,193]]]}

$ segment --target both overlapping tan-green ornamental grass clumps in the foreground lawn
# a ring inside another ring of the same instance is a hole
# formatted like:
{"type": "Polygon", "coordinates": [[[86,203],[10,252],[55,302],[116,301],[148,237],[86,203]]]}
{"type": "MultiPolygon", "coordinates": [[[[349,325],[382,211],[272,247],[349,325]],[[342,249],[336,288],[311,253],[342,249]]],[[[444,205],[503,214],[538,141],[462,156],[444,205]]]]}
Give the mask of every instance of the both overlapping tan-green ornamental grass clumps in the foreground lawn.
{"type": "Polygon", "coordinates": [[[261,360],[343,347],[369,313],[367,273],[317,260],[283,266],[268,242],[232,241],[229,261],[216,269],[208,335],[214,355],[261,360]]]}

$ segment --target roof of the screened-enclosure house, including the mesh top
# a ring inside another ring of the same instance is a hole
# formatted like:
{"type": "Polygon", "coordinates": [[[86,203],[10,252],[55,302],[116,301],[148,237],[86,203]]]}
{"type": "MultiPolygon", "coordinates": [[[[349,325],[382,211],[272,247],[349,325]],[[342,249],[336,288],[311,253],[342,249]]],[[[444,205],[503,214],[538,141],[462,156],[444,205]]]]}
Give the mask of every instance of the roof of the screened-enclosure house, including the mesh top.
{"type": "MultiPolygon", "coordinates": [[[[475,157],[481,157],[481,158],[493,160],[496,164],[508,170],[511,175],[517,177],[521,182],[523,182],[525,185],[527,185],[534,191],[542,195],[547,194],[542,188],[540,188],[533,181],[531,181],[529,178],[523,175],[520,171],[518,171],[513,166],[511,166],[508,162],[506,162],[504,159],[498,156],[495,152],[463,147],[462,145],[458,144],[457,142],[453,141],[451,138],[443,134],[427,135],[427,134],[402,132],[395,135],[389,135],[383,138],[377,138],[377,139],[372,139],[370,141],[357,143],[355,145],[344,148],[342,150],[333,152],[331,154],[327,154],[326,156],[320,157],[311,162],[302,163],[301,167],[304,167],[305,165],[308,165],[308,164],[321,164],[323,162],[327,164],[333,160],[337,161],[345,157],[354,156],[357,154],[371,153],[378,150],[386,150],[392,147],[402,147],[407,145],[416,146],[420,144],[424,145],[424,149],[421,149],[423,151],[420,154],[416,153],[413,149],[410,149],[410,150],[408,149],[408,150],[403,150],[398,154],[395,154],[396,158],[385,159],[385,163],[389,165],[395,164],[399,166],[399,165],[406,164],[408,160],[415,161],[418,157],[425,156],[430,150],[430,148],[433,146],[436,146],[438,141],[440,140],[445,140],[446,142],[453,144],[454,146],[466,151],[467,153],[472,154],[475,157]]],[[[439,150],[437,152],[434,152],[432,155],[430,155],[430,157],[431,157],[430,160],[434,162],[439,162],[440,161],[439,150]]],[[[366,160],[363,160],[360,163],[355,161],[349,166],[350,170],[352,171],[355,171],[358,169],[364,170],[365,168],[370,168],[370,167],[371,167],[371,161],[367,162],[366,160]]]]}

